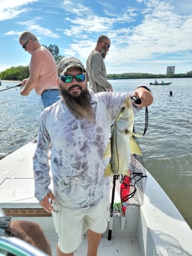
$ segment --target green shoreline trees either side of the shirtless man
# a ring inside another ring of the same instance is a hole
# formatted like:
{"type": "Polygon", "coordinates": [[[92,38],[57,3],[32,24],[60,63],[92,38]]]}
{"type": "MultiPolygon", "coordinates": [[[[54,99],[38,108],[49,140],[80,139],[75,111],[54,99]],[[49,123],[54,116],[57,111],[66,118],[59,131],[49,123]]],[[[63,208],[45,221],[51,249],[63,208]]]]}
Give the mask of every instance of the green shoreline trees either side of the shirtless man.
{"type": "MultiPolygon", "coordinates": [[[[61,60],[62,57],[64,57],[59,54],[59,47],[57,45],[49,44],[48,47],[46,45],[44,45],[44,47],[49,49],[49,52],[52,53],[54,60],[56,61],[57,64],[59,63],[59,60],[61,60]]],[[[1,80],[21,81],[24,78],[29,77],[29,65],[27,66],[20,65],[18,67],[10,67],[9,69],[0,72],[0,77],[1,77],[1,80]]]]}

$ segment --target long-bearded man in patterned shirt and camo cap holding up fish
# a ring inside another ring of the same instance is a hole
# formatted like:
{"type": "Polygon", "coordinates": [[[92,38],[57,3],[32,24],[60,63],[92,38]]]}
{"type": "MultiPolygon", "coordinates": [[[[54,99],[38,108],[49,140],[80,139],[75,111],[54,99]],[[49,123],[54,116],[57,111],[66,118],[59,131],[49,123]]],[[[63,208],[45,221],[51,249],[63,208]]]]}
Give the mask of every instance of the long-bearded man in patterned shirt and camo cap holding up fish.
{"type": "MultiPolygon", "coordinates": [[[[115,145],[116,137],[121,136],[118,143],[123,142],[122,147],[130,154],[133,111],[136,113],[139,108],[150,105],[153,95],[145,86],[138,87],[133,94],[94,94],[87,89],[85,68],[75,57],[65,57],[59,62],[58,75],[61,99],[44,109],[39,118],[34,153],[35,196],[47,212],[52,212],[59,236],[58,256],[74,255],[85,232],[87,256],[96,256],[102,233],[107,228],[108,175],[114,171],[127,174],[128,160],[122,166],[115,166],[117,152],[110,148],[115,145]],[[131,95],[140,98],[140,105],[131,103],[131,95]],[[115,120],[114,134],[115,131],[121,134],[114,135],[115,140],[107,146],[112,120],[115,120]],[[50,143],[53,188],[47,158],[50,143]],[[109,160],[110,166],[107,166],[109,160]]],[[[131,152],[134,148],[138,150],[133,146],[131,152]]]]}

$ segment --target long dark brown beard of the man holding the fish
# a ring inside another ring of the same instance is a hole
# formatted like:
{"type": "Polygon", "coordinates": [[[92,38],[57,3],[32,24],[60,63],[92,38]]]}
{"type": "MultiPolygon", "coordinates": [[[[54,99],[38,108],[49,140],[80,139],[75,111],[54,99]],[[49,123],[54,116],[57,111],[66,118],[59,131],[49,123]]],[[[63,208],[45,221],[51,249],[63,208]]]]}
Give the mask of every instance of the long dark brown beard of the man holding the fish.
{"type": "Polygon", "coordinates": [[[80,85],[72,85],[68,90],[65,90],[62,86],[59,85],[59,90],[62,100],[67,105],[70,113],[75,115],[76,118],[86,118],[87,120],[92,120],[92,106],[90,103],[90,93],[89,90],[82,90],[80,95],[76,93],[69,93],[69,90],[73,87],[79,87],[82,90],[80,85]]]}

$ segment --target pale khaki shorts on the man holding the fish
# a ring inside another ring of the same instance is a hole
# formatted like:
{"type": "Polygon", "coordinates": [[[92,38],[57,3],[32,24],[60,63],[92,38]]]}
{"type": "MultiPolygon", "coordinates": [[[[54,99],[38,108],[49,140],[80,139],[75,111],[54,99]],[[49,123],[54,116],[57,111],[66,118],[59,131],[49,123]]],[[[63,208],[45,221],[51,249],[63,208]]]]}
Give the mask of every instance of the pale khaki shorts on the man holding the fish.
{"type": "Polygon", "coordinates": [[[53,203],[52,217],[59,237],[59,249],[64,253],[75,252],[87,229],[102,234],[107,228],[109,199],[102,199],[90,209],[68,209],[53,203]]]}

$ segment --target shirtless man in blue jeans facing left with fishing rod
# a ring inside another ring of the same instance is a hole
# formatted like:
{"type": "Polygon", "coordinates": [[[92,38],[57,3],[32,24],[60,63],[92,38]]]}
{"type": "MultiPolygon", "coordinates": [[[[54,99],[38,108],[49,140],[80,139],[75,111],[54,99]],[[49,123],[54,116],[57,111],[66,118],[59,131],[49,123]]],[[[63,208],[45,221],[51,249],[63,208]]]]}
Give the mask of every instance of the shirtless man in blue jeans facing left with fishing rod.
{"type": "Polygon", "coordinates": [[[41,95],[43,108],[46,108],[59,100],[57,65],[54,57],[31,32],[22,32],[19,44],[32,54],[29,77],[21,82],[21,95],[27,96],[34,89],[37,95],[41,95]]]}

